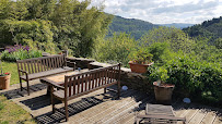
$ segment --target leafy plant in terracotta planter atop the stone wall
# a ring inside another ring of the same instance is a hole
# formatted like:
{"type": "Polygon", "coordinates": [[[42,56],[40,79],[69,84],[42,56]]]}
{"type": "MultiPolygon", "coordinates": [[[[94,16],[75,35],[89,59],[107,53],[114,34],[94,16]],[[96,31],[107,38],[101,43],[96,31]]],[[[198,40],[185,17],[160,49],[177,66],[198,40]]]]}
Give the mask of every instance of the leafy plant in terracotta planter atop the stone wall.
{"type": "Polygon", "coordinates": [[[152,63],[152,54],[144,51],[143,49],[133,52],[130,57],[129,66],[131,72],[135,73],[145,73],[148,66],[152,63]]]}

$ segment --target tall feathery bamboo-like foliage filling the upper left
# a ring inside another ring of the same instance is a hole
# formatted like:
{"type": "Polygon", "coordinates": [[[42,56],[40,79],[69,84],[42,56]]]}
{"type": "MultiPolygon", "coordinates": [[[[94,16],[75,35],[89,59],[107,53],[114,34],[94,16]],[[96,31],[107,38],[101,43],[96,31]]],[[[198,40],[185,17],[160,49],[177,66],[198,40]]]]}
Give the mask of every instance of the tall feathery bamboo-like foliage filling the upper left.
{"type": "Polygon", "coordinates": [[[105,37],[112,16],[90,0],[1,0],[0,42],[28,45],[56,53],[67,49],[89,57],[97,39],[105,37]],[[58,46],[58,47],[57,47],[58,46]]]}

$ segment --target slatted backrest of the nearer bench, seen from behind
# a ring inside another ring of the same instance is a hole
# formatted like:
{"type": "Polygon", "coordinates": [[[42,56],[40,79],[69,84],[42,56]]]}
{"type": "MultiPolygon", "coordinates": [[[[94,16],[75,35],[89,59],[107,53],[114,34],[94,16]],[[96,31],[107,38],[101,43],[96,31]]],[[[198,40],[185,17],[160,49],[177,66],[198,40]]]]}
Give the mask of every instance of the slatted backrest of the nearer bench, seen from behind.
{"type": "Polygon", "coordinates": [[[120,64],[65,76],[65,97],[75,98],[118,82],[120,82],[120,64]]]}

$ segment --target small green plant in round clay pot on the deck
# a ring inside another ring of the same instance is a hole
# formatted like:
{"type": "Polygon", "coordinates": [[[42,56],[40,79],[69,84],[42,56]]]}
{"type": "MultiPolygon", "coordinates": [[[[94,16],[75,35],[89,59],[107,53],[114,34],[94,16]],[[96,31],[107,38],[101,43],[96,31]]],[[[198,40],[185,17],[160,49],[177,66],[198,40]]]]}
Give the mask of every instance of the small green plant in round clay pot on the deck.
{"type": "Polygon", "coordinates": [[[156,72],[159,80],[153,83],[155,100],[157,103],[171,104],[172,94],[175,85],[167,84],[167,70],[160,67],[156,72]]]}

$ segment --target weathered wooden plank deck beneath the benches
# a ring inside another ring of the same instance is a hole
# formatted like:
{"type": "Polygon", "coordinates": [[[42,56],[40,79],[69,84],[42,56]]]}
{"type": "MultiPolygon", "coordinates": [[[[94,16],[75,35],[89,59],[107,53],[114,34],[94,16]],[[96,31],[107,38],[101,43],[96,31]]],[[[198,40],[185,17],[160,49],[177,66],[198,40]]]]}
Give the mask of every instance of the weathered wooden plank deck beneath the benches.
{"type": "MultiPolygon", "coordinates": [[[[31,96],[26,91],[20,91],[19,85],[13,85],[10,90],[0,90],[26,111],[39,123],[62,123],[65,115],[51,113],[50,98],[46,96],[46,85],[39,80],[33,80],[31,96]]],[[[115,87],[112,87],[115,89],[115,87]]],[[[153,97],[128,89],[121,91],[121,98],[116,100],[115,94],[103,89],[79,97],[69,102],[70,117],[68,124],[133,124],[136,113],[144,113],[145,103],[152,102],[153,97]]],[[[63,109],[63,103],[56,106],[63,109]]],[[[188,124],[222,124],[221,110],[197,103],[185,104],[175,101],[173,108],[176,116],[186,116],[188,124]]]]}

